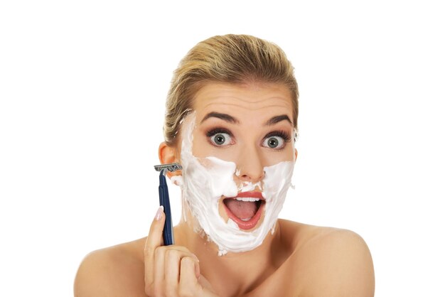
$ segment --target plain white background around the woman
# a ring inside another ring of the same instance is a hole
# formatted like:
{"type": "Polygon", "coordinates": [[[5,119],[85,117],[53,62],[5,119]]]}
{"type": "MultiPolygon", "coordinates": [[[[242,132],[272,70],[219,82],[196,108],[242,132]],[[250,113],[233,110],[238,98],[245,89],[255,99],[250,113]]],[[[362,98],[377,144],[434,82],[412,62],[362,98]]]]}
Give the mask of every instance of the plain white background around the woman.
{"type": "Polygon", "coordinates": [[[295,66],[282,217],[360,234],[376,296],[445,295],[441,1],[149,2],[1,1],[0,296],[71,296],[85,254],[146,236],[171,73],[225,33],[295,66]]]}

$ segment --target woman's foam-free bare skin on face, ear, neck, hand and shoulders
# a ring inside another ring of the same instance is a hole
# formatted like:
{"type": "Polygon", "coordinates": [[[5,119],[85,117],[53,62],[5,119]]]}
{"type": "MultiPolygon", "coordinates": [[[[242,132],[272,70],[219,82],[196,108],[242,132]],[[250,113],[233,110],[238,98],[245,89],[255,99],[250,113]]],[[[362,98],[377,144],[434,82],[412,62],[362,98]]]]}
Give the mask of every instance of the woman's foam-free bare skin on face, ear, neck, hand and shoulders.
{"type": "MultiPolygon", "coordinates": [[[[193,154],[235,162],[237,183],[261,181],[264,166],[296,159],[292,141],[280,150],[264,146],[270,131],[293,135],[287,120],[266,124],[279,115],[292,119],[282,85],[209,83],[196,94],[194,110],[193,154]],[[205,119],[211,112],[237,121],[205,119]],[[231,132],[227,146],[215,146],[207,135],[215,127],[231,132]]],[[[179,145],[159,147],[162,163],[179,161],[180,153],[179,145]]],[[[227,219],[223,207],[220,215],[227,219]]],[[[278,220],[257,249],[218,257],[218,247],[193,232],[188,211],[186,218],[174,228],[174,245],[163,247],[160,209],[148,237],[88,254],[77,271],[75,296],[374,296],[370,251],[354,232],[278,220]]]]}

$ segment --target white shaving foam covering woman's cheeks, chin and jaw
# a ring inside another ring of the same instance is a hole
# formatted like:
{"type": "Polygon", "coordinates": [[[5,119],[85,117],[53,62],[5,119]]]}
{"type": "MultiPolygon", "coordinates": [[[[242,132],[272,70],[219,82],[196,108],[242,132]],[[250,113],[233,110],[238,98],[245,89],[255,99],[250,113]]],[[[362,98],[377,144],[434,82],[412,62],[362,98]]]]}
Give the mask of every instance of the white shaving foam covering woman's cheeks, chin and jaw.
{"type": "MultiPolygon", "coordinates": [[[[283,161],[274,166],[264,167],[264,179],[260,183],[242,183],[238,186],[233,177],[237,173],[236,164],[215,157],[196,158],[193,156],[193,130],[195,113],[186,117],[183,123],[181,146],[182,178],[174,183],[181,185],[183,207],[189,207],[199,226],[195,232],[207,235],[215,242],[219,255],[227,252],[247,252],[258,247],[269,231],[274,232],[286,193],[291,185],[294,161],[283,161]],[[237,193],[254,190],[259,186],[266,200],[264,220],[252,231],[245,231],[232,220],[227,223],[220,216],[218,206],[222,196],[234,197],[237,193]]],[[[238,173],[239,174],[239,173],[238,173]]],[[[184,211],[184,218],[186,212],[184,211]]]]}

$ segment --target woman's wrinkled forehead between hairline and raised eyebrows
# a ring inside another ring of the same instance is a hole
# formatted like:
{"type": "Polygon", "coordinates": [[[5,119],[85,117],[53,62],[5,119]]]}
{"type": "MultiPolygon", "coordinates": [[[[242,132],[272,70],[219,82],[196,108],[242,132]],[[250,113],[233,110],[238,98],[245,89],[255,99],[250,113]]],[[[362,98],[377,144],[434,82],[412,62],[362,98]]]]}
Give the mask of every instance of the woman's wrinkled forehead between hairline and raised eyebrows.
{"type": "Polygon", "coordinates": [[[196,92],[193,109],[197,121],[215,110],[233,115],[254,114],[255,117],[287,114],[291,119],[291,92],[285,85],[270,82],[242,85],[210,82],[196,92]]]}

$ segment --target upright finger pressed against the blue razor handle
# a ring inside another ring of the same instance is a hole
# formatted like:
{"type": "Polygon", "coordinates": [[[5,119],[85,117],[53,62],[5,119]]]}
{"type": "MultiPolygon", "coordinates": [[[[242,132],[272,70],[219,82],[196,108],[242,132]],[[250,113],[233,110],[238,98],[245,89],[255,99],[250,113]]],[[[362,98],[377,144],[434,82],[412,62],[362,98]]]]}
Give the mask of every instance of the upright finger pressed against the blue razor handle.
{"type": "MultiPolygon", "coordinates": [[[[144,247],[144,264],[145,264],[145,288],[146,293],[151,292],[154,284],[154,254],[156,248],[163,245],[162,230],[165,222],[165,215],[163,213],[163,206],[159,207],[153,222],[151,222],[149,236],[146,238],[144,247]]],[[[149,294],[151,295],[151,294],[149,294]]]]}

